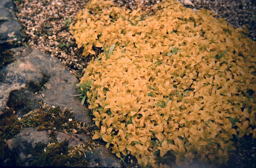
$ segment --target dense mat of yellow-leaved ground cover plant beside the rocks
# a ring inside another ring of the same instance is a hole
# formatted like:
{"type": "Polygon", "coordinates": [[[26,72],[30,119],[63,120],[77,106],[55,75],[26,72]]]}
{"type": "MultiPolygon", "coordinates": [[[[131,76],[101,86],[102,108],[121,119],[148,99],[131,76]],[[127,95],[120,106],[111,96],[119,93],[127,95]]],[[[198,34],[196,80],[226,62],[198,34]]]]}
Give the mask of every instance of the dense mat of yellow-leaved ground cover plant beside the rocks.
{"type": "Polygon", "coordinates": [[[80,82],[94,139],[141,167],[225,164],[232,138],[256,138],[255,42],[207,10],[165,0],[152,11],[94,0],[70,24],[94,56],[80,82]]]}

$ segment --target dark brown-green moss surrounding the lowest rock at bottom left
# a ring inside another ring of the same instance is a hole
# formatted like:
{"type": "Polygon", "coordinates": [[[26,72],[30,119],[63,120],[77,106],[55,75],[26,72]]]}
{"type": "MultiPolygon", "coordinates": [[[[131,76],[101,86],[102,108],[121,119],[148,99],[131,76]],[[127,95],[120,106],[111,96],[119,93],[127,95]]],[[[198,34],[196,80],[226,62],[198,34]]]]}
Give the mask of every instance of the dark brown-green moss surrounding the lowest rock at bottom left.
{"type": "MultiPolygon", "coordinates": [[[[32,114],[22,117],[19,121],[13,114],[13,108],[0,115],[0,165],[24,165],[23,161],[17,160],[17,153],[11,151],[5,143],[6,139],[13,138],[24,127],[38,127],[38,131],[42,130],[58,130],[72,133],[73,129],[78,130],[78,133],[86,133],[85,126],[81,122],[72,120],[72,112],[66,110],[61,111],[59,107],[49,109],[36,109],[32,114]]],[[[56,143],[55,134],[50,134],[51,142],[56,143]]],[[[23,154],[31,154],[33,158],[28,160],[29,165],[36,166],[87,166],[86,159],[81,159],[83,156],[74,155],[71,157],[68,151],[68,142],[56,143],[54,146],[47,148],[45,144],[36,144],[34,148],[27,146],[23,154]],[[46,149],[46,152],[44,152],[46,149]]]]}

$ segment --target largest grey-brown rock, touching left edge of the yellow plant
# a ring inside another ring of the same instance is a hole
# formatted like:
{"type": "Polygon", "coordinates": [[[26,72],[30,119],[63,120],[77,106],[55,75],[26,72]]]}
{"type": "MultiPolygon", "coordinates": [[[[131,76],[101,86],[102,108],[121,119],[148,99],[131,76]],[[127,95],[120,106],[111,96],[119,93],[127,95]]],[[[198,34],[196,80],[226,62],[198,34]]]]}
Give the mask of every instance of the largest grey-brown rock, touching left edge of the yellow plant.
{"type": "MultiPolygon", "coordinates": [[[[29,112],[35,107],[37,102],[42,101],[50,106],[59,106],[62,110],[64,108],[72,108],[73,114],[76,120],[89,124],[92,122],[90,111],[82,106],[79,98],[69,97],[70,95],[77,95],[76,84],[78,83],[75,76],[73,76],[58,59],[43,54],[39,50],[31,50],[27,48],[16,48],[11,49],[14,52],[14,58],[16,59],[13,63],[0,69],[0,111],[4,111],[8,104],[9,94],[13,94],[13,90],[25,88],[29,83],[33,85],[39,85],[45,76],[48,76],[48,82],[43,83],[44,89],[38,90],[26,90],[22,91],[24,96],[23,99],[29,97],[30,100],[26,100],[23,103],[30,101],[31,107],[25,109],[24,107],[21,114],[17,113],[18,116],[24,115],[25,112],[29,112]],[[32,92],[29,94],[27,92],[32,92]],[[6,105],[7,104],[7,105],[6,105]],[[32,104],[32,105],[31,105],[32,104]],[[35,105],[33,105],[35,104],[35,105]],[[27,110],[27,111],[26,111],[27,110]]],[[[29,87],[27,87],[29,89],[29,87]]],[[[14,96],[14,101],[19,100],[20,97],[14,96]]],[[[23,105],[22,103],[20,103],[23,105]]],[[[16,105],[17,106],[17,105],[16,105]]],[[[17,107],[19,108],[19,107],[17,107]]]]}

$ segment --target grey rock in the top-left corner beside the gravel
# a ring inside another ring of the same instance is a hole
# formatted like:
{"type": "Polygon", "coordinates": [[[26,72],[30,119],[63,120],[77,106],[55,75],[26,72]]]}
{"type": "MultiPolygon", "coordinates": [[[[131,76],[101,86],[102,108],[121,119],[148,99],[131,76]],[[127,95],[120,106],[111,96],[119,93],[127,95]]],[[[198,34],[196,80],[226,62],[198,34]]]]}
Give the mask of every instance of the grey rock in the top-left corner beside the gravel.
{"type": "Polygon", "coordinates": [[[15,17],[12,0],[0,0],[0,50],[21,38],[21,25],[15,17]]]}

